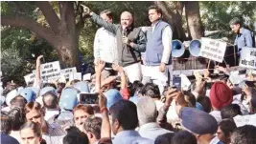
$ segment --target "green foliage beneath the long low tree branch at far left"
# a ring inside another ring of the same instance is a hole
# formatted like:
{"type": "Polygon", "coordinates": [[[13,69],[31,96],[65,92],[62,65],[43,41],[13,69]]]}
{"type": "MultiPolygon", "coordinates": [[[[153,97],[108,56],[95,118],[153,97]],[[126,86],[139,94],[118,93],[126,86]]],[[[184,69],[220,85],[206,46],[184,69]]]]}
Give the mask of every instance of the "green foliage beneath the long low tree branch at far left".
{"type": "Polygon", "coordinates": [[[23,76],[35,70],[36,56],[45,61],[58,60],[57,52],[31,31],[7,28],[1,31],[1,71],[3,80],[24,83],[23,76]]]}

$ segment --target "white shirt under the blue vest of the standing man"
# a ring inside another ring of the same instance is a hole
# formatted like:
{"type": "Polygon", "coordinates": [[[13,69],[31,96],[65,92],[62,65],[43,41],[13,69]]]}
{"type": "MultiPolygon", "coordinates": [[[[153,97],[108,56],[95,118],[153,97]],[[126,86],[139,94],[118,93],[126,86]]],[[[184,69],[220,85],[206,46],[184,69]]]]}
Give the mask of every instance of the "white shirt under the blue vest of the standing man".
{"type": "MultiPolygon", "coordinates": [[[[152,32],[154,31],[155,25],[152,26],[152,32]]],[[[171,56],[171,51],[172,51],[172,39],[173,39],[173,31],[171,27],[167,26],[165,27],[163,33],[162,33],[162,43],[164,47],[163,51],[163,56],[161,63],[168,63],[170,56],[171,56]]]]}

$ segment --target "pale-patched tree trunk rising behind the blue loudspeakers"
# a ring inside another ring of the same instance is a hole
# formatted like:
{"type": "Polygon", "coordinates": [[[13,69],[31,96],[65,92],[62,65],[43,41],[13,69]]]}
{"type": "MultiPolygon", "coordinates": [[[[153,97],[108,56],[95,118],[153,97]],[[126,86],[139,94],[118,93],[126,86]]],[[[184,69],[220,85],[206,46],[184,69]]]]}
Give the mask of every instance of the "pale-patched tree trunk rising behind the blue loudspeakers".
{"type": "Polygon", "coordinates": [[[200,18],[199,3],[197,1],[185,2],[185,12],[191,38],[200,39],[204,36],[204,31],[200,18]]]}

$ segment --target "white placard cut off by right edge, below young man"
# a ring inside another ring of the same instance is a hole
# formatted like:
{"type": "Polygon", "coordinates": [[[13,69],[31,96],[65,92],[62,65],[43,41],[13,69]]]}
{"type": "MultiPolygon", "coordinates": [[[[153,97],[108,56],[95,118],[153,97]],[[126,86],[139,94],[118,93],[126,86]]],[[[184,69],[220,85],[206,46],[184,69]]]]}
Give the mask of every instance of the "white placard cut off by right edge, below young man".
{"type": "Polygon", "coordinates": [[[241,51],[240,67],[256,69],[256,49],[244,47],[241,51]]]}

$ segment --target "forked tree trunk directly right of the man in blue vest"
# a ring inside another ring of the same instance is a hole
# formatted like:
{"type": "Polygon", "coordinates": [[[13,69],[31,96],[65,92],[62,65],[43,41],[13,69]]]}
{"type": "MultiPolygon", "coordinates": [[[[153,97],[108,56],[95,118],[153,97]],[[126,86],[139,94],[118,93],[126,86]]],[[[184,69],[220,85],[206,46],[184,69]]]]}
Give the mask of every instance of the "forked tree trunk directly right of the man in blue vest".
{"type": "Polygon", "coordinates": [[[163,11],[165,21],[171,24],[173,39],[186,40],[186,34],[182,28],[183,3],[171,1],[155,1],[154,3],[163,11]]]}

